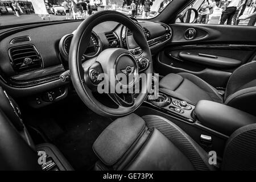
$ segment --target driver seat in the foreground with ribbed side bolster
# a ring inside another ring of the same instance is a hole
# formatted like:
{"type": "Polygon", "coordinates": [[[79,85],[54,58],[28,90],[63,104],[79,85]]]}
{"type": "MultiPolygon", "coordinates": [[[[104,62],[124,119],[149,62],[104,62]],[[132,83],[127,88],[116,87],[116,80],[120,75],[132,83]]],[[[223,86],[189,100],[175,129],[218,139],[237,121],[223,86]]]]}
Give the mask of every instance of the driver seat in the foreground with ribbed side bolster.
{"type": "MultiPolygon", "coordinates": [[[[95,170],[215,170],[209,156],[171,121],[130,114],[116,119],[97,138],[95,170]]],[[[226,143],[221,169],[255,170],[256,124],[241,127],[226,143]]]]}

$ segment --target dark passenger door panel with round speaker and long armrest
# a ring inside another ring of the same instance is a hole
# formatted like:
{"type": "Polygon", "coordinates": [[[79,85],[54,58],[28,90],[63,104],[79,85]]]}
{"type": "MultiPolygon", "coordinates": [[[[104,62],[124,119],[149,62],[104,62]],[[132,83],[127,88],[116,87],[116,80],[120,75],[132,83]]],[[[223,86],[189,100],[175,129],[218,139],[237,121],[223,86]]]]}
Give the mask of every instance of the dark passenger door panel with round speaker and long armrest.
{"type": "Polygon", "coordinates": [[[170,26],[173,37],[155,61],[160,75],[188,72],[216,88],[225,88],[232,72],[255,58],[255,27],[189,23],[170,26]],[[196,31],[192,40],[184,36],[189,28],[196,31]]]}

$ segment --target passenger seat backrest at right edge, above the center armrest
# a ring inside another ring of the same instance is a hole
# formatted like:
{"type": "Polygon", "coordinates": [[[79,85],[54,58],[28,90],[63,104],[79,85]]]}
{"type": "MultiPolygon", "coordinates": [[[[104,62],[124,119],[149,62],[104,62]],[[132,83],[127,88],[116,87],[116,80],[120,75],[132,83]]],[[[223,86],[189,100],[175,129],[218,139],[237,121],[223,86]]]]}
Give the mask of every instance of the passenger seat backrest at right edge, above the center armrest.
{"type": "Polygon", "coordinates": [[[237,68],[226,86],[224,104],[256,115],[256,61],[237,68]]]}

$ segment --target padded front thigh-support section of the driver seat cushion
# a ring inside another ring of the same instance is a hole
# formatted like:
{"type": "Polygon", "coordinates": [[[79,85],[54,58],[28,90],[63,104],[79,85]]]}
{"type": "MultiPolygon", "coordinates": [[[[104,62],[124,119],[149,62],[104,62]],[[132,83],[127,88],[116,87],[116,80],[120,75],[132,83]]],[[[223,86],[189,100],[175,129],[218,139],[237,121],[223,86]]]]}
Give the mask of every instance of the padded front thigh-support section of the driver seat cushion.
{"type": "Polygon", "coordinates": [[[142,118],[135,114],[122,117],[111,123],[93,144],[98,158],[107,166],[121,159],[146,127],[142,118]]]}

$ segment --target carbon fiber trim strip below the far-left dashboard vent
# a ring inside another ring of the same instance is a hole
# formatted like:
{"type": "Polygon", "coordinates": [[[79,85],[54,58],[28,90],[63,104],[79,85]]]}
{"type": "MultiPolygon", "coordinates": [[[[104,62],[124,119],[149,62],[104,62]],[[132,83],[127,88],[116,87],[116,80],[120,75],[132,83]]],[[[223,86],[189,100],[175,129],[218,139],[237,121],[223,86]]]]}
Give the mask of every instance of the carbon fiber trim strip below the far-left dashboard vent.
{"type": "Polygon", "coordinates": [[[47,67],[47,68],[42,68],[42,69],[37,69],[34,71],[26,72],[26,73],[21,73],[19,75],[12,76],[11,79],[13,81],[27,81],[27,80],[32,80],[35,78],[42,78],[42,77],[47,77],[49,75],[54,75],[55,73],[60,73],[64,72],[65,69],[62,64],[60,65],[55,65],[53,67],[47,67]]]}

